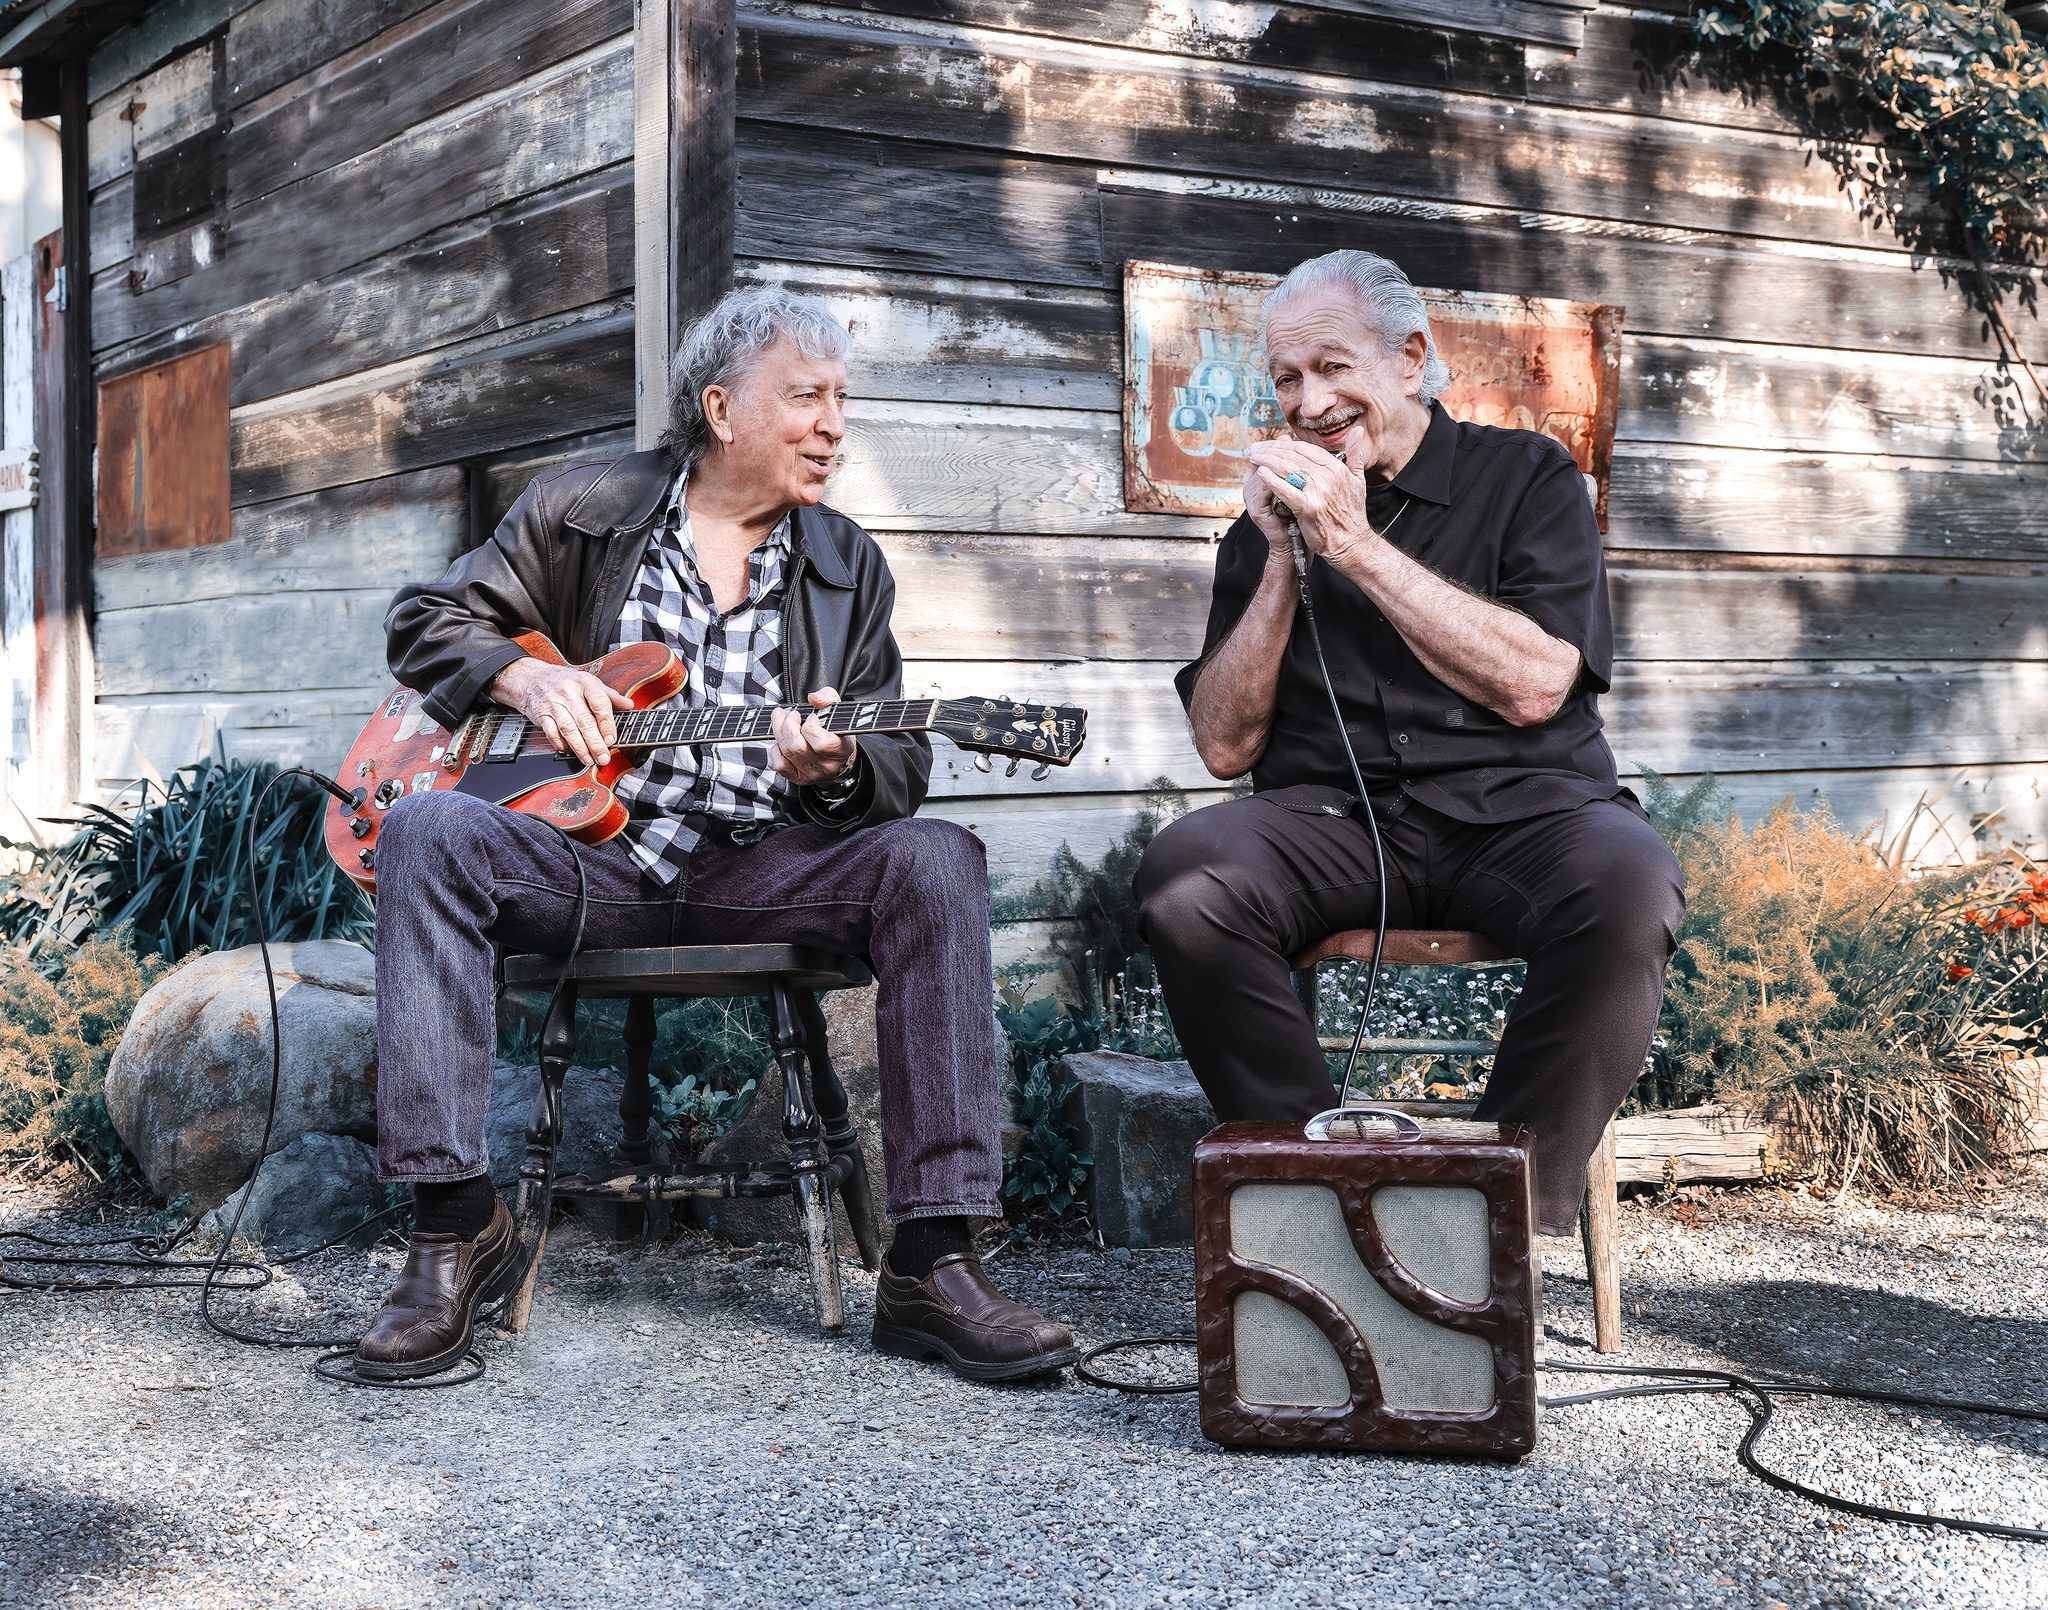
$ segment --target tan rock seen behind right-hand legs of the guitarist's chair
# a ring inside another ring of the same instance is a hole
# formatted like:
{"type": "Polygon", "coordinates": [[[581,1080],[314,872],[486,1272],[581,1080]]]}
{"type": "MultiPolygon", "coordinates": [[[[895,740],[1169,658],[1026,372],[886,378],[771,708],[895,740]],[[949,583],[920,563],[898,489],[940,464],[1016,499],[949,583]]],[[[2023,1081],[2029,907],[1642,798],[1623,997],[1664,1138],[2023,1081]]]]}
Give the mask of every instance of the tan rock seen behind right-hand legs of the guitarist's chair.
{"type": "MultiPolygon", "coordinates": [[[[846,1086],[846,1110],[860,1135],[860,1155],[868,1163],[868,1190],[874,1196],[874,1219],[887,1243],[889,1176],[883,1163],[881,1061],[874,1053],[874,985],[866,989],[834,989],[821,1002],[825,1041],[831,1047],[831,1067],[846,1086]]],[[[758,1075],[760,1086],[729,1131],[705,1147],[713,1168],[737,1163],[784,1161],[788,1141],[782,1139],[782,1071],[770,1061],[758,1075]]],[[[723,1241],[750,1247],[758,1241],[795,1241],[797,1209],[786,1196],[743,1196],[731,1202],[696,1206],[696,1223],[723,1241]]],[[[840,1213],[840,1247],[852,1252],[854,1237],[840,1213]]]]}

